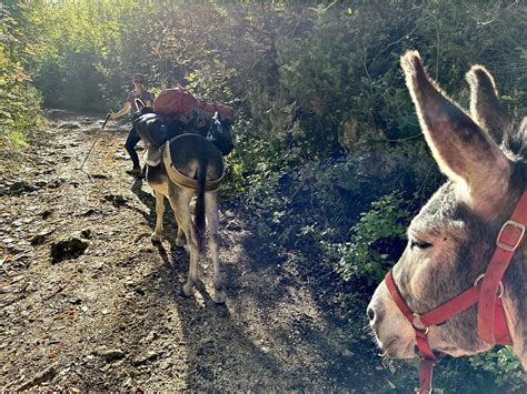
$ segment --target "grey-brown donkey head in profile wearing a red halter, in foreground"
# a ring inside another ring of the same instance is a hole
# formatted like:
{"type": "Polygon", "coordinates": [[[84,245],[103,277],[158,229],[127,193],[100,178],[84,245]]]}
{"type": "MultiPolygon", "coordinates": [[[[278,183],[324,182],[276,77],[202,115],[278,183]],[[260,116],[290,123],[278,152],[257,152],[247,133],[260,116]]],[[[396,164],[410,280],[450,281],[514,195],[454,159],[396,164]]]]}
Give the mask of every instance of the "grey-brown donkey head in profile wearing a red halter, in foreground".
{"type": "Polygon", "coordinates": [[[419,54],[401,58],[426,141],[448,176],[411,221],[408,245],[368,306],[378,345],[421,357],[421,391],[444,354],[514,345],[527,367],[527,118],[515,122],[480,65],[466,78],[470,114],[445,97],[419,54]],[[504,273],[505,272],[505,273],[504,273]]]}

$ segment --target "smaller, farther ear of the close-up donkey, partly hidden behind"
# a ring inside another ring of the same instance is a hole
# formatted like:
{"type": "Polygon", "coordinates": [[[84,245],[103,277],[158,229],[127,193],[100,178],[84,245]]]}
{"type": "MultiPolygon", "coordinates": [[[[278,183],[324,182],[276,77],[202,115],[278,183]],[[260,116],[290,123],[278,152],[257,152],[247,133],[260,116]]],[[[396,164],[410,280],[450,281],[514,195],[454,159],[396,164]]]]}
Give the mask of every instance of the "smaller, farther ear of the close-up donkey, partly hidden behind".
{"type": "Polygon", "coordinates": [[[500,144],[513,119],[499,100],[493,75],[483,65],[473,65],[465,78],[470,85],[470,115],[500,144]]]}

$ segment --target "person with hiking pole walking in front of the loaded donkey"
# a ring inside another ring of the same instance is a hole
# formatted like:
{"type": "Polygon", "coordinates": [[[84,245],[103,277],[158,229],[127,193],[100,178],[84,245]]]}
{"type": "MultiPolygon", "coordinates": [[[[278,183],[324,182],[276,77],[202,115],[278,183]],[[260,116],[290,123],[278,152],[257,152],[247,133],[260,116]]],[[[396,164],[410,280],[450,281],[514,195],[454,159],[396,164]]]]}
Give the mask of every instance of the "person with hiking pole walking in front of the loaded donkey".
{"type": "MultiPolygon", "coordinates": [[[[133,90],[128,94],[127,102],[125,103],[125,107],[116,112],[112,113],[110,112],[108,118],[110,120],[116,120],[119,119],[123,115],[126,115],[130,110],[133,110],[136,112],[138,108],[136,107],[136,99],[140,99],[145,105],[151,107],[153,103],[153,94],[149,92],[148,90],[143,89],[143,82],[145,82],[145,77],[140,73],[135,73],[133,74],[133,90]]],[[[136,152],[136,145],[139,142],[141,138],[137,133],[137,131],[131,128],[130,132],[128,133],[127,141],[125,142],[125,148],[130,155],[130,159],[133,163],[133,168],[131,170],[127,171],[127,174],[129,175],[135,175],[135,176],[140,176],[141,175],[141,165],[139,164],[139,156],[136,152]]]]}

